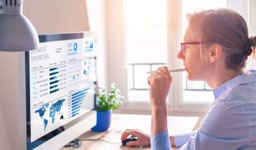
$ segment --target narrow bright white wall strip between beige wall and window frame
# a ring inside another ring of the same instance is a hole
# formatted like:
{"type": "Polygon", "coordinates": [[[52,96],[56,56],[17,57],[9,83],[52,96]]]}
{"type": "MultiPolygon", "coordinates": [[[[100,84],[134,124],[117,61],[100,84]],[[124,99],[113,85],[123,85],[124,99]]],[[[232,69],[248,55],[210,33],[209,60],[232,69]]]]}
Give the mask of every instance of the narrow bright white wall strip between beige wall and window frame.
{"type": "Polygon", "coordinates": [[[97,36],[97,74],[100,87],[108,86],[108,49],[107,49],[107,20],[106,1],[87,0],[90,31],[97,36]]]}

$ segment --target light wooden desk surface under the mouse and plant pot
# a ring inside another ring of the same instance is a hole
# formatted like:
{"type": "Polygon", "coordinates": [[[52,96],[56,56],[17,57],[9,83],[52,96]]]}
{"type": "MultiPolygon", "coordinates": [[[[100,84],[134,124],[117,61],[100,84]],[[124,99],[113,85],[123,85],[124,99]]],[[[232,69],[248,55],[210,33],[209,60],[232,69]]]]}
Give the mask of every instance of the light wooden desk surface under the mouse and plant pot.
{"type": "MultiPolygon", "coordinates": [[[[187,133],[193,130],[195,124],[197,124],[198,117],[181,117],[181,116],[168,116],[168,130],[169,134],[187,133]]],[[[61,150],[93,150],[93,149],[150,149],[150,147],[138,148],[127,147],[121,145],[120,136],[126,129],[140,129],[146,133],[151,133],[151,115],[124,115],[124,114],[112,114],[111,127],[108,131],[102,133],[96,133],[87,131],[78,137],[78,139],[104,139],[109,142],[100,140],[82,141],[80,148],[61,148],[61,150]]]]}

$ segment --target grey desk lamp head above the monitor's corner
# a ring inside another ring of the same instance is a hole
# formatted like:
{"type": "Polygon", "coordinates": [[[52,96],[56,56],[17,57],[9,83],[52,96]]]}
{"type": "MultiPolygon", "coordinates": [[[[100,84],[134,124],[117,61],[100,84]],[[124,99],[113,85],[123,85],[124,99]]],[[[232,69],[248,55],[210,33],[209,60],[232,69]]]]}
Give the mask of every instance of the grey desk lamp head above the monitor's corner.
{"type": "Polygon", "coordinates": [[[23,0],[0,0],[0,51],[20,52],[38,47],[38,34],[23,15],[23,0]]]}

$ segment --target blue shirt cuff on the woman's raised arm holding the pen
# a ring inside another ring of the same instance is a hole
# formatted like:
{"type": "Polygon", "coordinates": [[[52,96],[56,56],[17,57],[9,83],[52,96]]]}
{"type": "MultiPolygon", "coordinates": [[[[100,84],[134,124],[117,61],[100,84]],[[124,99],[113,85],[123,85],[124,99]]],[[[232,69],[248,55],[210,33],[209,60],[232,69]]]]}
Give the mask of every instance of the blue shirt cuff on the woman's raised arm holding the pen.
{"type": "Polygon", "coordinates": [[[170,150],[171,143],[169,142],[169,133],[157,133],[151,135],[151,149],[152,150],[170,150]]]}

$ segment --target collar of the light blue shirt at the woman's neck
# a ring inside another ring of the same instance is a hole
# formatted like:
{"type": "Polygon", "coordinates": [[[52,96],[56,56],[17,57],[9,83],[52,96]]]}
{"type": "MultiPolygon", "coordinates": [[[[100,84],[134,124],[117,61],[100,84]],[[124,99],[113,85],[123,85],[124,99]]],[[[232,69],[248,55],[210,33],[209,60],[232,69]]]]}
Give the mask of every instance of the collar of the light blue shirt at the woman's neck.
{"type": "Polygon", "coordinates": [[[246,71],[245,74],[241,74],[228,80],[227,82],[221,84],[216,89],[213,90],[213,95],[215,96],[215,100],[219,95],[222,95],[229,89],[233,89],[235,86],[239,86],[246,83],[256,83],[256,70],[246,71]]]}

